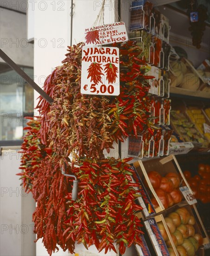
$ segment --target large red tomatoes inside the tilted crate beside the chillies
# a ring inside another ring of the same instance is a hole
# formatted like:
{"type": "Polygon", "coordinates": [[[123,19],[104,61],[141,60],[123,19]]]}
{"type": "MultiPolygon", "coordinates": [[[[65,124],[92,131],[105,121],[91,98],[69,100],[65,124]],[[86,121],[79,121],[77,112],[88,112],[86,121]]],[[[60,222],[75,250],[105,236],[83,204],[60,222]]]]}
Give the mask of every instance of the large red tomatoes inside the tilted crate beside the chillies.
{"type": "MultiPolygon", "coordinates": [[[[148,178],[165,209],[182,201],[182,194],[178,189],[181,180],[177,173],[169,172],[162,177],[158,172],[150,171],[148,178]]],[[[159,206],[154,197],[151,202],[154,208],[159,206]]]]}

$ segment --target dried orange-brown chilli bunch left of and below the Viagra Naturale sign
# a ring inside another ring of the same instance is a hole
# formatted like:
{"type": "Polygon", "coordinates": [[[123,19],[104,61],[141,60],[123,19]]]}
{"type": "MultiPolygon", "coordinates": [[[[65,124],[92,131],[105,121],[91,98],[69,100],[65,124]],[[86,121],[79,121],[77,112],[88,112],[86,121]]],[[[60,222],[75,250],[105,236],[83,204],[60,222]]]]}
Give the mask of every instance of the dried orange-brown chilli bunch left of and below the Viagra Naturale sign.
{"type": "Polygon", "coordinates": [[[50,146],[58,155],[103,157],[113,139],[109,133],[108,98],[83,95],[81,86],[82,45],[69,47],[67,58],[54,78],[53,104],[48,113],[50,146]]]}

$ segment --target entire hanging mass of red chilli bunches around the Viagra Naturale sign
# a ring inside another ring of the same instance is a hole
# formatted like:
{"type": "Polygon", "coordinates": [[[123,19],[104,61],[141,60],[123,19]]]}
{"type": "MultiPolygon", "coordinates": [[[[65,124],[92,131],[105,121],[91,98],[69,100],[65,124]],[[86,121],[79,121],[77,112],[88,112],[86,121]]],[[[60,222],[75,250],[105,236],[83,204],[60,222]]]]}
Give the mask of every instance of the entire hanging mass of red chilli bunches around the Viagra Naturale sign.
{"type": "MultiPolygon", "coordinates": [[[[153,135],[147,96],[150,77],[140,47],[132,41],[115,44],[120,48],[121,94],[116,98],[83,95],[82,46],[69,47],[63,65],[45,81],[53,104],[50,107],[40,97],[41,117],[26,128],[19,175],[37,202],[34,231],[50,255],[57,245],[73,253],[76,242],[86,248],[95,244],[105,252],[116,251],[119,244],[123,254],[133,243],[141,245],[141,223],[135,215],[141,207],[134,201],[139,196],[134,187],[139,185],[131,182],[130,159],[104,159],[103,150],[109,151],[114,140],[122,141],[128,134],[153,135]],[[71,200],[72,183],[61,173],[64,164],[66,172],[80,180],[76,201],[71,200]]],[[[105,71],[110,81],[115,79],[114,64],[105,71]]]]}

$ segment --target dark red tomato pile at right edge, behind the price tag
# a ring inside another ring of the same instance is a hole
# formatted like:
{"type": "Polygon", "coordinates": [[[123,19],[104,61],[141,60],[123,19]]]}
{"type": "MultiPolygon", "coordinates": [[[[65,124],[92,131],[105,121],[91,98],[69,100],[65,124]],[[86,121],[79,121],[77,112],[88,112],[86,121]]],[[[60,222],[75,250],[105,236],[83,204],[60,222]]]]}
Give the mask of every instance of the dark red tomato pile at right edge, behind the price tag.
{"type": "Polygon", "coordinates": [[[200,163],[198,174],[192,176],[190,171],[184,171],[185,178],[189,183],[193,195],[203,203],[210,202],[210,165],[200,163]]]}

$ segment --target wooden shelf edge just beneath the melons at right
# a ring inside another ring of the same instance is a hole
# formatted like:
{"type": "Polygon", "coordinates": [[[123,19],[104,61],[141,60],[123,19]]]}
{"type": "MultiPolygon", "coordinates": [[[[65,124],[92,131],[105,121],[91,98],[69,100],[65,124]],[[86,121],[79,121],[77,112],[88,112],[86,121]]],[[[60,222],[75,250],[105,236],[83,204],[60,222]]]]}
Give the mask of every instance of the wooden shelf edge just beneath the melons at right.
{"type": "Polygon", "coordinates": [[[178,88],[178,87],[170,87],[170,95],[171,96],[184,95],[184,96],[190,96],[190,97],[210,99],[210,93],[209,92],[191,91],[191,90],[186,90],[186,89],[178,88]]]}

